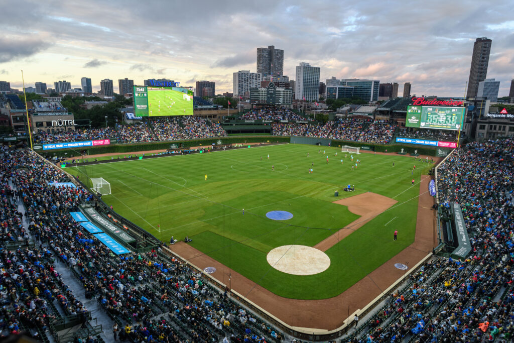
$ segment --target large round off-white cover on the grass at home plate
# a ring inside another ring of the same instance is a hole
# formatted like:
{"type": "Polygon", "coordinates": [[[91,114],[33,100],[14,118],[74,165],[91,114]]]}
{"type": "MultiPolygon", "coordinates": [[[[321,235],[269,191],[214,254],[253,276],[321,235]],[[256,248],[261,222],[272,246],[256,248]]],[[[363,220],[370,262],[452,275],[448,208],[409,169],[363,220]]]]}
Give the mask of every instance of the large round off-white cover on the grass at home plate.
{"type": "Polygon", "coordinates": [[[321,250],[305,245],[282,245],[268,252],[268,263],[292,275],[314,275],[330,266],[330,258],[321,250]]]}

